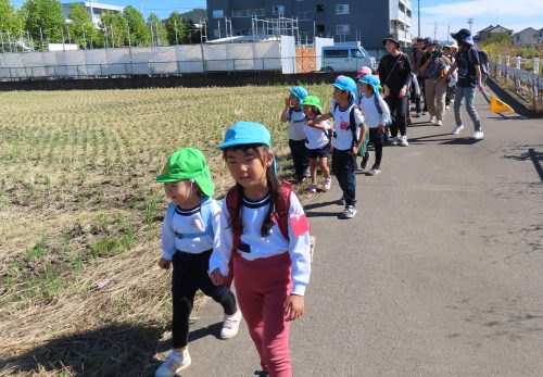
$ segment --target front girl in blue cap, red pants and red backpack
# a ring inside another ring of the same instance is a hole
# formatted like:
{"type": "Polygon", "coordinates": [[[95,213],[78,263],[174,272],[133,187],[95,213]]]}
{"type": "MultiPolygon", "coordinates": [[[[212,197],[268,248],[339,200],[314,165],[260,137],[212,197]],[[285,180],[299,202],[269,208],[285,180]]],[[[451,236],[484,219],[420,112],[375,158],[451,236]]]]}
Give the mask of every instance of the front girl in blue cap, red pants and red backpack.
{"type": "Polygon", "coordinates": [[[211,278],[220,285],[233,268],[239,306],[263,372],[291,377],[289,330],[304,313],[310,224],[290,184],[279,185],[266,127],[238,122],[218,148],[236,186],[224,201],[211,278]]]}

